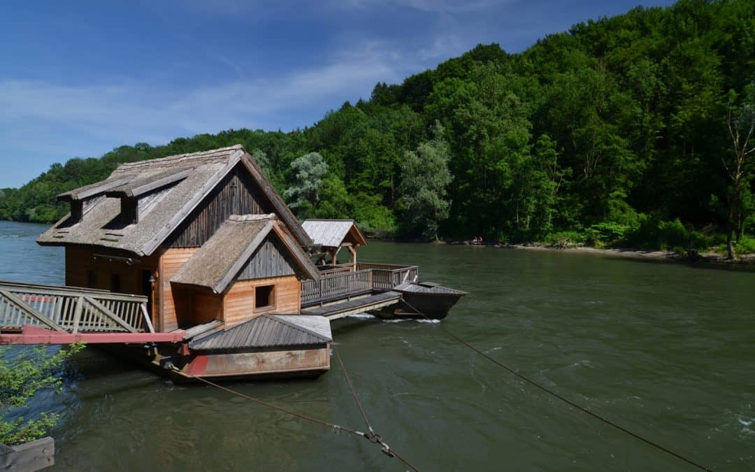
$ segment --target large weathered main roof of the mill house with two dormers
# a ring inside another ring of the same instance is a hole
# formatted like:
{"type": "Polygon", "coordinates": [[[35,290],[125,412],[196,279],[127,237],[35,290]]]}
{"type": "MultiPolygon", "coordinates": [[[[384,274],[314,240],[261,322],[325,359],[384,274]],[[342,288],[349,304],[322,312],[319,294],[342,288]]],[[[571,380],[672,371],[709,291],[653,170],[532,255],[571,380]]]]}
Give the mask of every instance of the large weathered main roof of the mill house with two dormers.
{"type": "Polygon", "coordinates": [[[66,215],[37,242],[96,245],[150,255],[236,165],[248,171],[298,244],[310,246],[307,233],[241,145],[123,164],[102,182],[61,193],[59,199],[83,202],[82,220],[72,221],[66,215]],[[120,223],[122,198],[140,198],[138,223],[120,223]]]}

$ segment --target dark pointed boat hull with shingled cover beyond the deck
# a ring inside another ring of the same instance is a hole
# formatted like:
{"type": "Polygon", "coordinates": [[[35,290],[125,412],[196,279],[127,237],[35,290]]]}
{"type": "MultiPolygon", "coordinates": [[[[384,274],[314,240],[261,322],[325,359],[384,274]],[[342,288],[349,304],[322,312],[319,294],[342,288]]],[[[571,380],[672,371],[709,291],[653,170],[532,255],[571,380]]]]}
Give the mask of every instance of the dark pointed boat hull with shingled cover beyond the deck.
{"type": "Polygon", "coordinates": [[[443,319],[467,292],[438,285],[434,282],[403,282],[393,287],[402,295],[403,303],[393,310],[394,316],[414,316],[443,319]],[[417,313],[420,312],[420,313],[417,313]]]}

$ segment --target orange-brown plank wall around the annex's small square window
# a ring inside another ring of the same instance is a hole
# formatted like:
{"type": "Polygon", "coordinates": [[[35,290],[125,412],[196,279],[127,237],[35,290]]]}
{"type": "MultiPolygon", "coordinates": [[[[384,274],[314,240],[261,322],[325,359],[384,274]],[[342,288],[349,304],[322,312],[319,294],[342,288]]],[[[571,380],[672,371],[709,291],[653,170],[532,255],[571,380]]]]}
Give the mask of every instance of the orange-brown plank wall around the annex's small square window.
{"type": "Polygon", "coordinates": [[[226,327],[245,322],[261,313],[299,313],[301,285],[296,276],[270,279],[237,280],[223,297],[223,320],[226,327]],[[276,285],[275,308],[254,310],[254,288],[259,285],[276,285]]]}

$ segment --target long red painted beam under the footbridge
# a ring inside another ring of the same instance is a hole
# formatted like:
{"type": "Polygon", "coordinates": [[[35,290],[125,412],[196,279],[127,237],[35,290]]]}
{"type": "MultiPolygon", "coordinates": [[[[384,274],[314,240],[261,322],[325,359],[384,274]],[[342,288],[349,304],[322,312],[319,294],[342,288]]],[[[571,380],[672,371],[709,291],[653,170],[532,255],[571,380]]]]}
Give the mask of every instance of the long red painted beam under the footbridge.
{"type": "Polygon", "coordinates": [[[185,332],[171,333],[61,333],[23,325],[20,334],[0,334],[0,344],[142,344],[183,341],[185,332]]]}

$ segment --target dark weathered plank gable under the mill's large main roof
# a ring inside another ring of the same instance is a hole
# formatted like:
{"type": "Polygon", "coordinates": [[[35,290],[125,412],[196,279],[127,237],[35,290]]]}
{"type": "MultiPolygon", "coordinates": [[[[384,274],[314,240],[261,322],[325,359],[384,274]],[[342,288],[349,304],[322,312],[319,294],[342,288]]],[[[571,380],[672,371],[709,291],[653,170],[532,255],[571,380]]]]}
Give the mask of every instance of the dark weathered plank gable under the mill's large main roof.
{"type": "Polygon", "coordinates": [[[270,213],[268,205],[262,202],[265,202],[265,199],[246,168],[241,164],[236,165],[171,236],[168,236],[164,246],[199,247],[205,244],[232,214],[270,213]]]}

